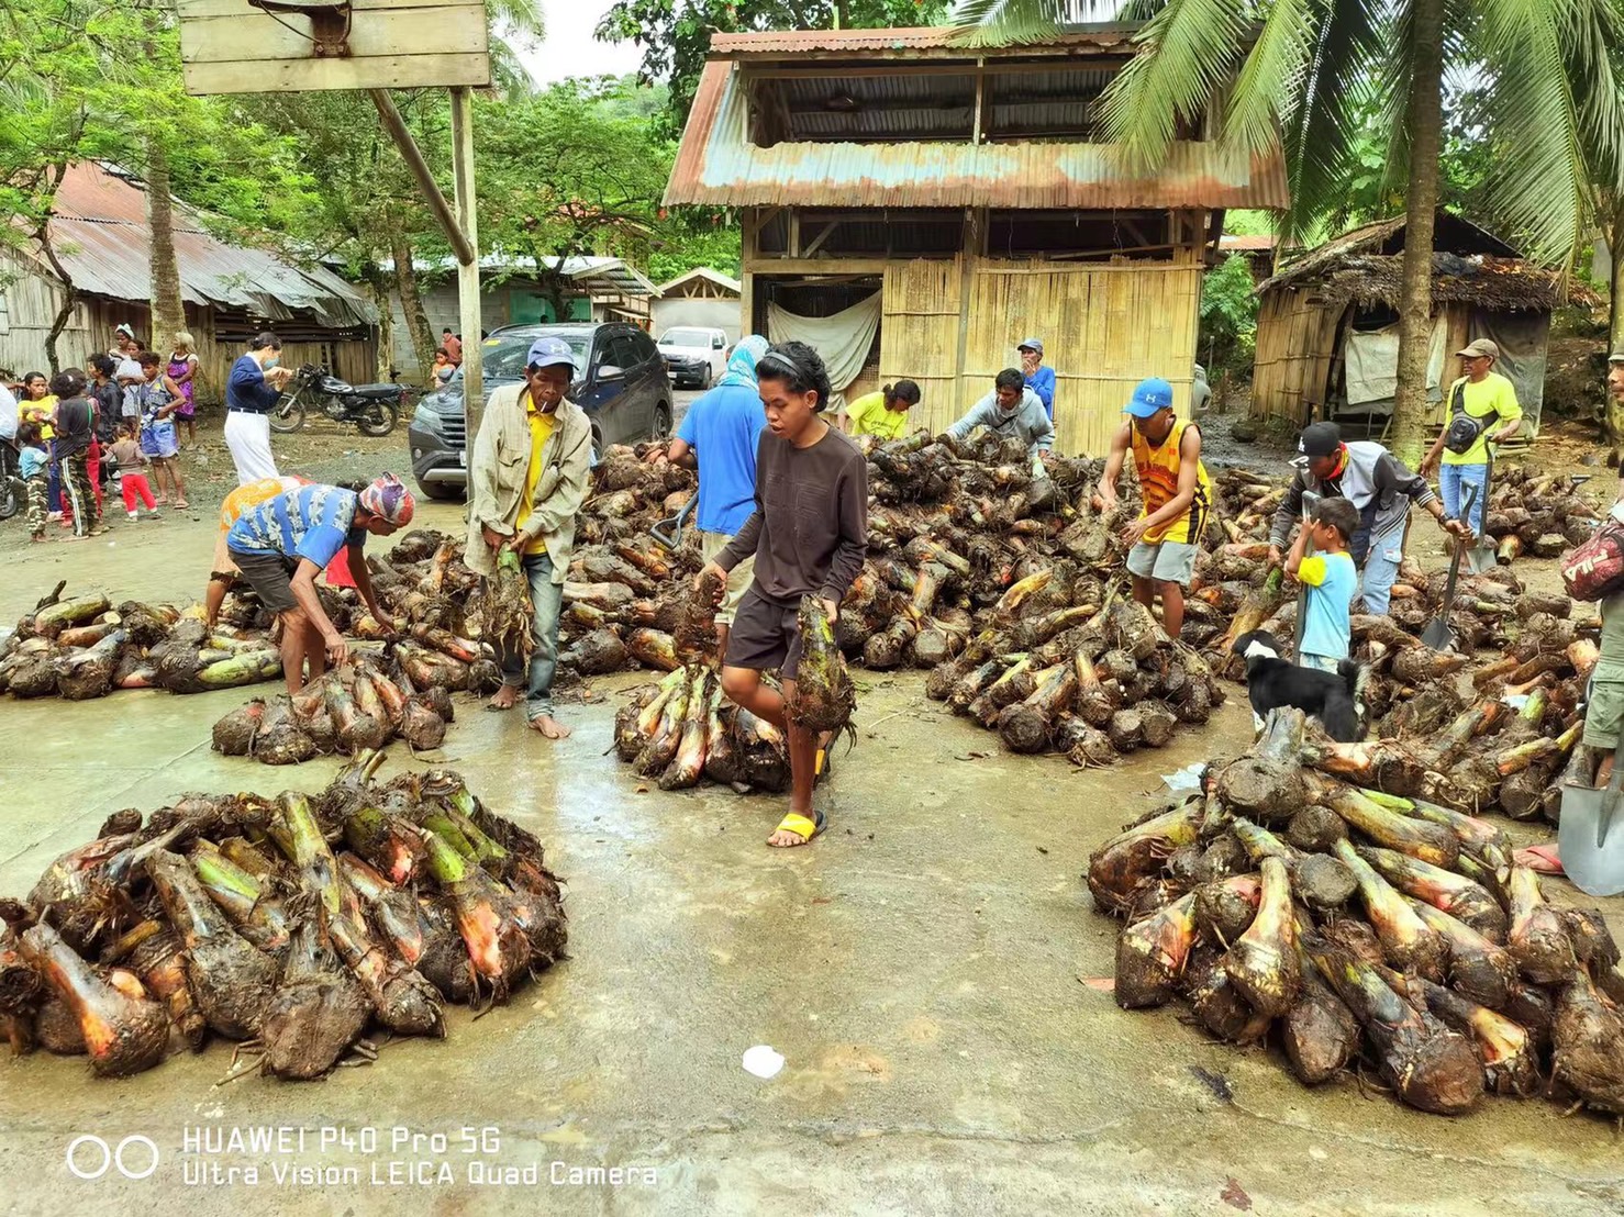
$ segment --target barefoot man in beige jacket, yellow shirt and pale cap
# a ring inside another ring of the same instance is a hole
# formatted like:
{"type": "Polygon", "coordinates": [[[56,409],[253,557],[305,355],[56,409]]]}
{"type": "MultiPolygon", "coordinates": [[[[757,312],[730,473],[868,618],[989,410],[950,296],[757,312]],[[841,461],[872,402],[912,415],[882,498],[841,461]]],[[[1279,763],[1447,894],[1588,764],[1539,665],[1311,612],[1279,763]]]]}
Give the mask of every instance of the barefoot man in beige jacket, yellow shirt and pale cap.
{"type": "Polygon", "coordinates": [[[575,355],[562,338],[531,342],[525,380],[490,394],[468,461],[464,561],[490,578],[502,550],[518,553],[536,610],[529,665],[518,654],[500,657],[502,688],[490,698],[490,709],[516,706],[523,686],[525,719],[549,740],[570,733],[552,714],[552,677],[559,669],[559,615],[575,550],[575,514],[586,498],[593,453],[586,412],[565,396],[575,373],[575,355]]]}

